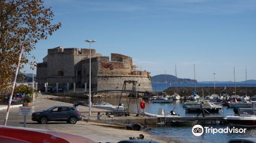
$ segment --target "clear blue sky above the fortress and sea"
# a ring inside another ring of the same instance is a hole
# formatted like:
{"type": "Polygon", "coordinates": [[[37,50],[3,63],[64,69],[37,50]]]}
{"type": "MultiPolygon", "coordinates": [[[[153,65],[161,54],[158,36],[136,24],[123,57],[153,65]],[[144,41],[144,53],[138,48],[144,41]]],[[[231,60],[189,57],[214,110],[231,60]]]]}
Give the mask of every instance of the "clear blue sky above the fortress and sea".
{"type": "MultiPolygon", "coordinates": [[[[256,1],[141,0],[46,1],[62,27],[41,40],[32,54],[42,62],[47,49],[92,48],[133,58],[143,70],[198,81],[256,79],[256,1]]],[[[26,73],[32,73],[27,66],[26,73]]]]}

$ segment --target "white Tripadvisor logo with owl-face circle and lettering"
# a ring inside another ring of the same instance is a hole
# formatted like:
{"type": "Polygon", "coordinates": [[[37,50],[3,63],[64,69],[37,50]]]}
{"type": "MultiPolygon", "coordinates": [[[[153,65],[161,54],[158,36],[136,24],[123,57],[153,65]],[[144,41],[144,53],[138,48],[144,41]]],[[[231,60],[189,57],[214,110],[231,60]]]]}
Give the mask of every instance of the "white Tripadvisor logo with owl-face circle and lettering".
{"type": "Polygon", "coordinates": [[[212,127],[202,127],[201,125],[195,125],[192,128],[192,133],[195,136],[201,136],[203,133],[211,133],[211,134],[216,134],[216,133],[245,133],[246,128],[212,128],[212,127]]]}

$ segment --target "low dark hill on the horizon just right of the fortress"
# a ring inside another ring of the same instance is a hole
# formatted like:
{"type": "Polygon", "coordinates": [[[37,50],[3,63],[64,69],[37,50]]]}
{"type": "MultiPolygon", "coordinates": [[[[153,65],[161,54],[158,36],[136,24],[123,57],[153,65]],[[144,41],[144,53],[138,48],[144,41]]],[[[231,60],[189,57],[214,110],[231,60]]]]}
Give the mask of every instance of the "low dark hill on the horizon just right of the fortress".
{"type": "MultiPolygon", "coordinates": [[[[152,82],[165,82],[165,75],[156,75],[151,78],[152,82]]],[[[166,75],[166,82],[176,82],[176,77],[173,75],[166,75]]],[[[195,80],[177,78],[178,83],[195,83],[195,80]]],[[[197,82],[197,81],[196,81],[197,82]]]]}

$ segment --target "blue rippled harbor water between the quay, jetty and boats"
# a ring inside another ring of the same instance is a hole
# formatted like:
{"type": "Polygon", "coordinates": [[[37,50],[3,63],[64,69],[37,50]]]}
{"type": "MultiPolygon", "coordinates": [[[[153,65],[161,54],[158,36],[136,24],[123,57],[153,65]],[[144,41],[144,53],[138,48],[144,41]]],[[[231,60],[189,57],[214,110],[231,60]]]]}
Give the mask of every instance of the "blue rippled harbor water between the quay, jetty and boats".
{"type": "MultiPolygon", "coordinates": [[[[88,99],[58,99],[58,101],[62,102],[68,102],[68,103],[74,103],[76,101],[86,101],[86,103],[89,103],[88,99]]],[[[97,98],[93,99],[93,103],[100,103],[100,102],[108,102],[112,105],[118,105],[119,99],[118,98],[97,98]]],[[[138,103],[142,101],[142,99],[138,100],[138,103]]],[[[186,113],[185,109],[182,107],[183,101],[173,101],[170,103],[148,103],[148,101],[144,100],[146,102],[146,106],[144,109],[144,112],[149,113],[158,113],[158,109],[162,108],[165,113],[173,110],[173,108],[178,107],[179,108],[179,114],[180,116],[197,116],[197,113],[186,113]]],[[[126,107],[126,99],[122,98],[121,103],[123,103],[126,107]]],[[[138,105],[139,106],[139,105],[138,105]]],[[[140,106],[139,106],[140,107],[140,106]]],[[[137,104],[135,99],[131,99],[130,103],[130,109],[132,112],[137,112],[137,104]]],[[[140,109],[140,112],[143,112],[143,110],[140,109]]],[[[223,107],[223,110],[221,110],[219,113],[212,113],[212,114],[206,114],[206,116],[226,116],[233,114],[233,108],[227,108],[223,107]]],[[[202,115],[201,115],[202,116],[202,115]]],[[[212,127],[212,128],[227,128],[230,127],[230,125],[220,125],[220,124],[210,124],[205,125],[206,127],[212,127]]],[[[237,128],[244,128],[244,127],[237,127],[237,128]]],[[[246,128],[245,133],[204,133],[202,136],[194,136],[191,126],[187,127],[173,127],[173,126],[159,126],[159,127],[153,127],[150,128],[150,130],[147,130],[148,133],[154,134],[161,137],[166,137],[174,140],[178,140],[181,142],[227,142],[229,139],[232,138],[238,138],[238,137],[256,137],[256,128],[246,128]]]]}

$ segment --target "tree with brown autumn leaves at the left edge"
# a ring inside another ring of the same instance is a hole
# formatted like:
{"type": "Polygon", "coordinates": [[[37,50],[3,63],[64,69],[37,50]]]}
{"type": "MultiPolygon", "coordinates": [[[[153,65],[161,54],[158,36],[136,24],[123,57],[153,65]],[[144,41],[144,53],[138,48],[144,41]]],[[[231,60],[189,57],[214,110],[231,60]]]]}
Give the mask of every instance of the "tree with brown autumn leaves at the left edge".
{"type": "Polygon", "coordinates": [[[20,69],[29,62],[36,43],[60,28],[60,22],[51,23],[53,17],[42,0],[0,0],[0,91],[10,90],[22,44],[20,69]]]}

